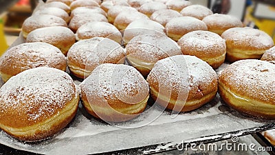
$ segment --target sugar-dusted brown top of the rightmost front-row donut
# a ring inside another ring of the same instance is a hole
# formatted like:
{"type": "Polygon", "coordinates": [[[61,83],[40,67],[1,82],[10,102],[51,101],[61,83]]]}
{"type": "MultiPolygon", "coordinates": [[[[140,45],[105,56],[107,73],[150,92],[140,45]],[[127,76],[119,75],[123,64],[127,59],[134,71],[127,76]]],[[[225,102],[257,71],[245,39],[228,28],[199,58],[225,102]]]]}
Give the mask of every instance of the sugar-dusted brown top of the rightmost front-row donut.
{"type": "Polygon", "coordinates": [[[219,75],[236,94],[275,103],[275,65],[266,61],[241,60],[232,63],[219,75]]]}

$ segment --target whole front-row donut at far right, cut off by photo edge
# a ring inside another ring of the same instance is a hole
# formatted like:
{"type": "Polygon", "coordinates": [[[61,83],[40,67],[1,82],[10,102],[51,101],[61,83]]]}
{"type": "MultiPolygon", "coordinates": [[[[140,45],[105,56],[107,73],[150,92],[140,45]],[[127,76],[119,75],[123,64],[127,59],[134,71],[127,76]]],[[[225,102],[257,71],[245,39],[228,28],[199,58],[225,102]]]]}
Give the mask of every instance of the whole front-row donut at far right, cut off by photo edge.
{"type": "Polygon", "coordinates": [[[275,118],[275,65],[255,59],[232,63],[219,74],[219,95],[234,110],[275,118]]]}

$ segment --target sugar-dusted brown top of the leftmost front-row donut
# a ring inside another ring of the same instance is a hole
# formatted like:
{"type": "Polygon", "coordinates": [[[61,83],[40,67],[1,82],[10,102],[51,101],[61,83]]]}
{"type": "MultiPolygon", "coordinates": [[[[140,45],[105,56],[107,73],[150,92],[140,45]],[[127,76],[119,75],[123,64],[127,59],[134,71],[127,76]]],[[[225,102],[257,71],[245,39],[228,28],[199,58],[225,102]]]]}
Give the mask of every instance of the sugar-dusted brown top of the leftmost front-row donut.
{"type": "Polygon", "coordinates": [[[34,68],[13,76],[1,87],[0,111],[2,116],[12,113],[19,124],[32,125],[58,113],[75,95],[76,87],[67,73],[34,68]]]}

